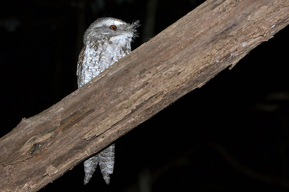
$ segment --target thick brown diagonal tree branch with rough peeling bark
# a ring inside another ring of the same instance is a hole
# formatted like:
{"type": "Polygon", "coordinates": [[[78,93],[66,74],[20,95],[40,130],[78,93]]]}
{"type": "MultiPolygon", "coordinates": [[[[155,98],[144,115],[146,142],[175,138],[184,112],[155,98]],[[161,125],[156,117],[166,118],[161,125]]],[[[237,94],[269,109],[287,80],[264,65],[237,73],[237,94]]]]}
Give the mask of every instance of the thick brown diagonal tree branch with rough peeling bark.
{"type": "Polygon", "coordinates": [[[36,191],[289,22],[288,0],[208,0],[0,139],[0,190],[36,191]]]}

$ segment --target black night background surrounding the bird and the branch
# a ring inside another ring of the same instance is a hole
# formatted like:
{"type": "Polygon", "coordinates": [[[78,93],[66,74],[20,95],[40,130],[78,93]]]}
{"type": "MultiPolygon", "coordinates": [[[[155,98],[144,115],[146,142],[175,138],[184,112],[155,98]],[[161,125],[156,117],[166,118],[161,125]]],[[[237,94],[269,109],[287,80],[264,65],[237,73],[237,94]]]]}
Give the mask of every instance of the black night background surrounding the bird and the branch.
{"type": "MultiPolygon", "coordinates": [[[[0,137],[77,89],[82,35],[95,19],[140,20],[135,49],[203,1],[13,2],[0,4],[0,137]]],[[[80,163],[40,191],[287,191],[288,34],[118,139],[109,185],[99,168],[83,185],[80,163]]]]}

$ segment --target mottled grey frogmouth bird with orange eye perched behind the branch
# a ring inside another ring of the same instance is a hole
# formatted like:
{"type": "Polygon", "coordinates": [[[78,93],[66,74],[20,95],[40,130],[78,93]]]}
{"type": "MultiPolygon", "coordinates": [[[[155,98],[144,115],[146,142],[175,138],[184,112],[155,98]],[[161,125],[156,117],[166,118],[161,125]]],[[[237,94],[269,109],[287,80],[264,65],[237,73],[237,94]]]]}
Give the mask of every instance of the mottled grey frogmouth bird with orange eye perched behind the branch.
{"type": "MultiPolygon", "coordinates": [[[[97,19],[85,31],[84,46],[77,63],[77,83],[81,87],[103,70],[131,52],[132,38],[138,21],[132,24],[120,19],[105,17],[97,19]]],[[[97,155],[84,161],[84,184],[89,182],[97,164],[101,169],[104,181],[109,184],[109,175],[113,173],[114,144],[97,155]]]]}

